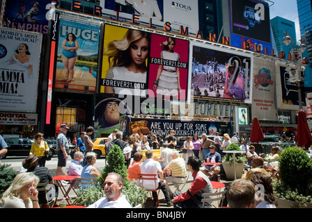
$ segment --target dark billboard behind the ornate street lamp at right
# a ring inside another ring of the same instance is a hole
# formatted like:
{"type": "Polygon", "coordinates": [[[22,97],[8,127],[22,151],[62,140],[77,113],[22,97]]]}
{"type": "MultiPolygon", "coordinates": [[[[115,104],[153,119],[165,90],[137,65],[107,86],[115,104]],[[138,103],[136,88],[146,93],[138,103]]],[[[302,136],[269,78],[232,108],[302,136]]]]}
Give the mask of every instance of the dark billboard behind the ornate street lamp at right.
{"type": "MultiPolygon", "coordinates": [[[[279,66],[276,70],[276,103],[277,108],[285,110],[298,110],[299,95],[297,82],[291,81],[295,69],[279,66]]],[[[302,105],[306,105],[304,82],[300,82],[302,105]]]]}

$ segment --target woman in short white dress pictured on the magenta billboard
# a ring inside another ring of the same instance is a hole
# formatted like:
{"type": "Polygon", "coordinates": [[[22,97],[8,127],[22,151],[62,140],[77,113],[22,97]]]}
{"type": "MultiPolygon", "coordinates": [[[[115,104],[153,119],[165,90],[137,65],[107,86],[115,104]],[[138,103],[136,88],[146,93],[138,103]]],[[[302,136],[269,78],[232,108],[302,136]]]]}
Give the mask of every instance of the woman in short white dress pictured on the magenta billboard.
{"type": "MultiPolygon", "coordinates": [[[[180,55],[173,51],[174,46],[176,46],[176,40],[173,37],[168,37],[160,46],[162,47],[161,59],[180,61],[180,55]]],[[[182,90],[180,87],[180,69],[159,65],[153,89],[156,90],[157,94],[164,96],[178,96],[182,90]]]]}

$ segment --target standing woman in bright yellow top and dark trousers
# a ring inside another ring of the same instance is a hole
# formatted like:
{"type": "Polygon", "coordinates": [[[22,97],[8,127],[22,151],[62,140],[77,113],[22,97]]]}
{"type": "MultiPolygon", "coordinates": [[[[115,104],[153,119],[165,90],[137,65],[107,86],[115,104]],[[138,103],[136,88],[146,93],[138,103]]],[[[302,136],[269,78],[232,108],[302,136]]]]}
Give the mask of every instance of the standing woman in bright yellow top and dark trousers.
{"type": "Polygon", "coordinates": [[[45,153],[49,152],[49,146],[47,145],[47,142],[43,140],[43,133],[37,133],[35,135],[35,140],[36,142],[31,145],[29,155],[36,155],[38,157],[39,167],[45,167],[45,153]]]}

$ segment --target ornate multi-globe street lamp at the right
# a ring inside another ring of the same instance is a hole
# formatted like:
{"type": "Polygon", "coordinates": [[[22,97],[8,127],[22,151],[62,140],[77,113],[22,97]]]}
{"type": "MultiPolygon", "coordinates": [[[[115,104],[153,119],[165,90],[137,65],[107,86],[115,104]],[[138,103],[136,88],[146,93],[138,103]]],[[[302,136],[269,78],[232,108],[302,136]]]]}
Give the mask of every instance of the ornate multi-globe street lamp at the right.
{"type": "MultiPolygon", "coordinates": [[[[292,44],[292,49],[290,49],[290,58],[295,63],[296,71],[295,74],[290,74],[290,81],[291,83],[297,83],[298,87],[298,99],[299,99],[299,110],[302,110],[302,97],[301,97],[301,88],[300,88],[300,82],[301,82],[301,73],[306,68],[302,65],[302,53],[306,51],[306,45],[302,43],[302,40],[298,40],[297,44],[294,44],[292,41],[292,38],[286,31],[284,31],[285,37],[283,37],[283,44],[288,46],[290,43],[292,44]],[[301,58],[300,58],[301,57],[301,58]],[[292,76],[295,76],[295,78],[292,78],[292,76]]],[[[288,59],[290,59],[288,58],[288,59]]],[[[290,71],[290,67],[286,68],[286,71],[290,71]]]]}

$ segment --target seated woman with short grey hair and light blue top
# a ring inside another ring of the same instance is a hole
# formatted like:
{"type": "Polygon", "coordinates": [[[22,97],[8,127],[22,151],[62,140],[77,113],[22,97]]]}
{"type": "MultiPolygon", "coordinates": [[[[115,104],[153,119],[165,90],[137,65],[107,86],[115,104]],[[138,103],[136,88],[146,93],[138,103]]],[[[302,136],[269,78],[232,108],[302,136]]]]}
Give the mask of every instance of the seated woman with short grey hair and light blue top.
{"type": "MultiPolygon", "coordinates": [[[[81,178],[98,178],[98,176],[100,176],[100,172],[94,167],[96,154],[94,152],[88,152],[85,155],[85,159],[87,164],[81,171],[81,178]]],[[[86,180],[84,182],[91,182],[91,180],[86,180]]],[[[81,189],[85,189],[88,186],[90,185],[81,185],[81,189]]]]}

